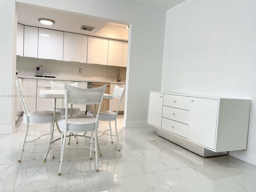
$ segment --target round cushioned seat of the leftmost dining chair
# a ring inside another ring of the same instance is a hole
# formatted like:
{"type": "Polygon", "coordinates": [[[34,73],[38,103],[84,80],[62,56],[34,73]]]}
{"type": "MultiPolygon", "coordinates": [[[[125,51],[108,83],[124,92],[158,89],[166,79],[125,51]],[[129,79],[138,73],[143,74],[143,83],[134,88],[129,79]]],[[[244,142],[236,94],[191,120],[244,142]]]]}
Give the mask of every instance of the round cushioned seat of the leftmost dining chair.
{"type": "MultiPolygon", "coordinates": [[[[61,117],[60,112],[56,112],[56,120],[61,117]]],[[[53,121],[53,111],[30,111],[28,112],[28,123],[48,123],[53,121]]],[[[27,123],[25,114],[23,122],[27,123]]]]}

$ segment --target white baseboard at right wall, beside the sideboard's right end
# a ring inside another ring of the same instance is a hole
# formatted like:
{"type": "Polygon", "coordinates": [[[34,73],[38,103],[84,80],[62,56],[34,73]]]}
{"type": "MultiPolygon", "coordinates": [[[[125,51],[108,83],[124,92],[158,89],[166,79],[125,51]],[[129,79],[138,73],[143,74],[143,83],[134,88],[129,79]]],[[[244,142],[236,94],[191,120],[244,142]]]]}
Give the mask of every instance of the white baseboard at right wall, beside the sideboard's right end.
{"type": "Polygon", "coordinates": [[[228,155],[256,166],[256,154],[248,150],[229,151],[228,155]]]}

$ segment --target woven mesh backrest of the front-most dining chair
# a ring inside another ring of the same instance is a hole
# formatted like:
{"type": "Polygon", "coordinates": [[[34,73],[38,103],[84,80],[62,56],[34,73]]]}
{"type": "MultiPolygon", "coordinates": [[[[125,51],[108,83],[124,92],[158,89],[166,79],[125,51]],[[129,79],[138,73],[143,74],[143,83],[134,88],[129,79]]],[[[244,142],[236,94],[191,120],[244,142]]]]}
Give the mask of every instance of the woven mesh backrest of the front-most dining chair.
{"type": "Polygon", "coordinates": [[[82,105],[99,104],[99,108],[96,116],[96,120],[98,120],[98,116],[99,116],[99,112],[102,105],[102,100],[103,100],[106,87],[107,86],[104,85],[98,88],[84,89],[84,88],[71,86],[64,82],[66,114],[68,114],[68,111],[67,111],[68,104],[71,104],[71,113],[72,113],[73,104],[82,104],[82,105]]]}

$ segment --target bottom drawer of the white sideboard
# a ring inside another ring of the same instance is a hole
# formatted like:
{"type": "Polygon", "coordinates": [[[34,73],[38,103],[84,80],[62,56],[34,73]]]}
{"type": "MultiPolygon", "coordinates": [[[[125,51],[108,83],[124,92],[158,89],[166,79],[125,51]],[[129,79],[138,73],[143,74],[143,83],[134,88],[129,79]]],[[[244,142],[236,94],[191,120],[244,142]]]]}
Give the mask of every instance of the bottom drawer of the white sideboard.
{"type": "Polygon", "coordinates": [[[162,129],[184,138],[188,138],[188,125],[186,124],[162,118],[162,129]]]}

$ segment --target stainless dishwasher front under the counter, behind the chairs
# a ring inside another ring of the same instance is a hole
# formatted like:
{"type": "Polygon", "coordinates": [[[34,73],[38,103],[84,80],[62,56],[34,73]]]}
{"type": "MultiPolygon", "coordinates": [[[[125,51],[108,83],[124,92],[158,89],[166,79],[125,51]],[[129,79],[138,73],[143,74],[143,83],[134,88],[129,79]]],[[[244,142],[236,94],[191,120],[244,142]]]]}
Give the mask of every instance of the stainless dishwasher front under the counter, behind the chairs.
{"type": "MultiPolygon", "coordinates": [[[[88,82],[88,89],[92,88],[98,88],[101,86],[107,85],[105,93],[110,94],[110,83],[94,83],[94,82],[88,82]]],[[[96,105],[96,110],[98,110],[99,105],[96,105]]],[[[87,111],[94,110],[94,105],[88,105],[87,111]]],[[[103,99],[101,110],[109,110],[109,99],[103,99]]]]}

